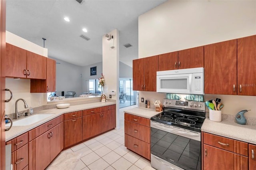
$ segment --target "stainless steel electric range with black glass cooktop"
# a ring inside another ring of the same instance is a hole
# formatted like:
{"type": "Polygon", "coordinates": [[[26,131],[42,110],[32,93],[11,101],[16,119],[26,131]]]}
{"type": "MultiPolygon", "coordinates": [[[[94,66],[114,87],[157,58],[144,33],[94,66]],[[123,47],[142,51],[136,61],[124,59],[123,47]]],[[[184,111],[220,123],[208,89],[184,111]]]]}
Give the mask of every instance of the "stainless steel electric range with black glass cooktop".
{"type": "Polygon", "coordinates": [[[151,166],[157,170],[201,169],[204,102],[164,99],[163,112],[151,118],[151,166]]]}

